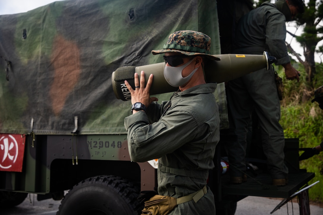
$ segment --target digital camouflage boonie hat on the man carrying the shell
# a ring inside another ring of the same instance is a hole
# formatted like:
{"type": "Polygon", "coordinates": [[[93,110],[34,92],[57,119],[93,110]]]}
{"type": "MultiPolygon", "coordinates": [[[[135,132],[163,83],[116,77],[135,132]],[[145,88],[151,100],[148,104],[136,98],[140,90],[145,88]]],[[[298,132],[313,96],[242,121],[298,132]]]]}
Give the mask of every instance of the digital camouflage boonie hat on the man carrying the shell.
{"type": "Polygon", "coordinates": [[[153,55],[177,52],[187,56],[205,56],[212,60],[220,58],[210,54],[211,38],[197,31],[176,31],[168,37],[162,50],[151,51],[153,55]]]}

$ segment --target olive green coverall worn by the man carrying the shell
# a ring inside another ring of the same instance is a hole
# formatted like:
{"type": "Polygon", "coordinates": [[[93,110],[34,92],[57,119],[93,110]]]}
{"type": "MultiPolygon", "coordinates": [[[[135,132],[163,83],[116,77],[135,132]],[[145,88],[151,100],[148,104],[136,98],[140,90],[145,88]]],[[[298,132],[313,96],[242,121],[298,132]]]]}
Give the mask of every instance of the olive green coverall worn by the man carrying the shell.
{"type": "MultiPolygon", "coordinates": [[[[147,114],[139,111],[125,118],[131,160],[159,158],[159,195],[179,198],[206,185],[219,141],[215,88],[208,83],[175,92],[168,102],[151,103],[147,114]]],[[[207,190],[197,203],[179,204],[170,214],[215,214],[214,196],[207,190]]]]}

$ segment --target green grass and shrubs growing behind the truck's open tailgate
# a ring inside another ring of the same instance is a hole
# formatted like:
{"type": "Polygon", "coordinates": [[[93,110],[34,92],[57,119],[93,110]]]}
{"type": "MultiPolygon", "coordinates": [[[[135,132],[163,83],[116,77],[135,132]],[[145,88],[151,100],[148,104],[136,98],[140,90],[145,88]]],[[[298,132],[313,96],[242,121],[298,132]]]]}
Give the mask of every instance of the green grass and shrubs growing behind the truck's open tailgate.
{"type": "MultiPolygon", "coordinates": [[[[302,103],[303,94],[313,97],[314,90],[323,85],[323,65],[317,64],[317,75],[313,80],[314,89],[307,91],[306,72],[301,64],[293,65],[301,72],[300,81],[286,80],[284,69],[275,66],[275,69],[284,83],[284,98],[281,101],[280,124],[284,128],[285,138],[299,138],[300,148],[313,148],[323,140],[323,110],[318,107],[316,102],[308,101],[302,103]]],[[[300,151],[300,154],[302,151],[300,151]]],[[[309,183],[322,181],[320,169],[323,165],[323,152],[307,160],[300,161],[300,168],[307,169],[307,172],[314,172],[315,177],[309,183]]],[[[318,183],[315,189],[309,189],[309,198],[312,201],[323,202],[323,183],[318,183]]]]}

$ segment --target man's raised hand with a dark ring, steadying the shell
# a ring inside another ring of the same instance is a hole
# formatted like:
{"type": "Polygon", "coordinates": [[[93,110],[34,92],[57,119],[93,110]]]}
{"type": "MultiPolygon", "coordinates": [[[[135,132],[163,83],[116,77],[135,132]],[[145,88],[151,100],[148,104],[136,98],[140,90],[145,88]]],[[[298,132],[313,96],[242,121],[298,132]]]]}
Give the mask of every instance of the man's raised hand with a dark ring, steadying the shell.
{"type": "MultiPolygon", "coordinates": [[[[158,101],[158,98],[156,97],[150,97],[149,91],[152,84],[153,75],[151,74],[149,76],[149,79],[147,81],[147,85],[145,87],[145,73],[144,71],[141,71],[140,75],[140,83],[138,79],[138,74],[135,73],[135,89],[132,89],[128,81],[124,81],[125,85],[127,86],[130,94],[131,94],[131,103],[134,104],[136,102],[141,102],[146,107],[150,105],[153,101],[158,101]]],[[[135,113],[137,111],[133,111],[135,113]]]]}

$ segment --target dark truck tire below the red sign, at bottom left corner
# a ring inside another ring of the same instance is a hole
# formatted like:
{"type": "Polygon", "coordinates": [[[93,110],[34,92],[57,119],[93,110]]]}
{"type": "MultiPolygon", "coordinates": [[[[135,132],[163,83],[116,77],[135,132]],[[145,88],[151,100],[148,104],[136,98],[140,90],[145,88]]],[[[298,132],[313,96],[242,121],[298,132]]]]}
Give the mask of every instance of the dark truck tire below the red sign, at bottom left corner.
{"type": "Polygon", "coordinates": [[[12,208],[22,203],[28,193],[0,191],[0,208],[12,208]]]}

